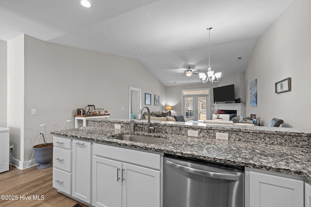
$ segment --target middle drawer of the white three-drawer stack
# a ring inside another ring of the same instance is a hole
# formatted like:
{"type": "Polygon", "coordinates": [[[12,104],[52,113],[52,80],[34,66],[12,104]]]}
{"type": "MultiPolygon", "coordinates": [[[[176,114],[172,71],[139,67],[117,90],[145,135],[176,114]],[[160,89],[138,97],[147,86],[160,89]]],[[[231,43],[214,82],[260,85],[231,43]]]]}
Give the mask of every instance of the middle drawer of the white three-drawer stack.
{"type": "Polygon", "coordinates": [[[71,172],[71,151],[53,147],[53,166],[71,172]]]}

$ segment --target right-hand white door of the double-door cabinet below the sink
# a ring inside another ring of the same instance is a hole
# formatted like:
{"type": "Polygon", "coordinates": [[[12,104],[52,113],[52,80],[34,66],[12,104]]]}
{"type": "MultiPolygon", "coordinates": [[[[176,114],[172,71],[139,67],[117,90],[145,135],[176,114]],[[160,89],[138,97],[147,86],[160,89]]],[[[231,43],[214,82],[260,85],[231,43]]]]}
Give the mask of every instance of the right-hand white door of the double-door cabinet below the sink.
{"type": "Polygon", "coordinates": [[[160,171],[123,163],[122,207],[160,207],[160,171]]]}

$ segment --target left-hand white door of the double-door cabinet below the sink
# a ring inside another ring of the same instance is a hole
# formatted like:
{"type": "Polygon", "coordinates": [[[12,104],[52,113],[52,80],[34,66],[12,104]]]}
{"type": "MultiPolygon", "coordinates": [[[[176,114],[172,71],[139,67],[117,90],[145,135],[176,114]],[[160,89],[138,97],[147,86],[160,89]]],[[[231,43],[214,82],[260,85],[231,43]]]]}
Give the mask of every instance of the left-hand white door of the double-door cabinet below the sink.
{"type": "Polygon", "coordinates": [[[92,205],[122,206],[122,162],[93,156],[92,205]]]}

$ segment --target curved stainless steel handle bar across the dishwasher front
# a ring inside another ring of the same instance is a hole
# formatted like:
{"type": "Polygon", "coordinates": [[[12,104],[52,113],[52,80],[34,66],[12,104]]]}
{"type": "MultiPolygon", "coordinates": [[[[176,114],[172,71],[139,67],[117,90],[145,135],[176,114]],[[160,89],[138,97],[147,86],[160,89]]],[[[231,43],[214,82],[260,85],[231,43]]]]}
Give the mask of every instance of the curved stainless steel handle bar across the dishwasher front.
{"type": "Polygon", "coordinates": [[[166,160],[166,164],[168,166],[171,166],[171,167],[176,168],[178,170],[182,170],[184,172],[195,174],[195,175],[201,175],[201,176],[205,176],[205,177],[211,177],[211,178],[217,178],[217,179],[223,179],[223,180],[234,180],[234,181],[239,180],[238,175],[208,172],[208,171],[204,171],[204,170],[199,170],[199,169],[194,169],[194,168],[186,167],[183,165],[179,165],[179,164],[176,164],[176,163],[168,161],[168,160],[166,160]]]}

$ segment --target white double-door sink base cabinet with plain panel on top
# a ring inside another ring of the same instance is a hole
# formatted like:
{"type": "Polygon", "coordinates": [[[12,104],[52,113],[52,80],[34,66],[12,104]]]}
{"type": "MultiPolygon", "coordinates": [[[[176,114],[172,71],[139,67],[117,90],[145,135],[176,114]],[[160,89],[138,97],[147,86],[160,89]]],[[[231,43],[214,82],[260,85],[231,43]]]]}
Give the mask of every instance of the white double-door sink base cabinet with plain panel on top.
{"type": "Polygon", "coordinates": [[[160,155],[96,143],[93,151],[93,206],[161,206],[160,155]]]}

